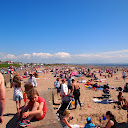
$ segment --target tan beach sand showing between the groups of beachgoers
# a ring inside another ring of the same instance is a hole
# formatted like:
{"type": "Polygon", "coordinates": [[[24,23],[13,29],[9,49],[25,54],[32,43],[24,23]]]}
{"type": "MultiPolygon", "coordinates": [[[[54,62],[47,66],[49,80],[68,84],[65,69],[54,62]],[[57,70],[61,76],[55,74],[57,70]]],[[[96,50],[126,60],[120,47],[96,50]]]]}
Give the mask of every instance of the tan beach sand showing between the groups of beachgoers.
{"type": "MultiPolygon", "coordinates": [[[[38,69],[41,70],[41,69],[38,69]]],[[[116,73],[113,77],[107,78],[107,83],[111,87],[123,87],[126,82],[128,82],[128,79],[124,82],[122,77],[122,72],[119,71],[116,73]],[[116,80],[116,77],[119,79],[116,80]]],[[[38,87],[37,90],[41,92],[42,90],[48,90],[48,88],[53,88],[54,87],[54,81],[56,78],[54,75],[49,72],[49,73],[39,73],[39,78],[37,79],[38,87]]],[[[101,79],[104,77],[101,76],[101,79]]],[[[76,81],[79,80],[80,78],[75,78],[76,81]]],[[[90,78],[84,77],[83,79],[87,80],[90,78]]],[[[24,78],[22,81],[22,86],[24,85],[24,82],[27,82],[28,78],[24,78]]],[[[60,81],[61,82],[61,81],[60,81]]],[[[82,109],[80,110],[79,105],[77,106],[77,109],[70,110],[71,115],[74,117],[74,119],[71,121],[71,124],[80,124],[84,125],[86,123],[86,118],[91,117],[92,121],[94,124],[99,124],[99,125],[105,125],[106,121],[102,120],[102,115],[105,115],[106,111],[111,111],[115,117],[118,123],[126,122],[127,121],[127,111],[126,110],[118,110],[117,105],[115,103],[112,104],[101,104],[101,103],[94,103],[92,100],[94,97],[100,97],[102,96],[103,92],[101,90],[92,90],[92,89],[87,89],[84,86],[84,83],[78,83],[80,85],[80,100],[83,103],[82,104],[82,109]],[[116,106],[114,109],[113,106],[116,106]]],[[[100,83],[100,85],[103,85],[105,83],[100,83]]],[[[7,84],[6,88],[6,106],[4,110],[4,122],[2,125],[0,125],[1,128],[6,128],[8,126],[8,122],[13,118],[13,116],[16,114],[16,104],[13,101],[13,88],[9,88],[10,85],[7,84]]],[[[111,94],[111,100],[117,101],[117,95],[118,91],[115,89],[110,89],[110,94],[111,94]]],[[[128,93],[123,93],[123,96],[126,98],[128,101],[128,93]]],[[[55,99],[56,101],[57,99],[55,99]]],[[[24,105],[24,102],[22,101],[22,105],[24,105]]],[[[58,107],[58,106],[53,106],[53,107],[58,107]]],[[[55,110],[57,111],[57,110],[55,110]]],[[[123,128],[123,127],[122,127],[123,128]]]]}

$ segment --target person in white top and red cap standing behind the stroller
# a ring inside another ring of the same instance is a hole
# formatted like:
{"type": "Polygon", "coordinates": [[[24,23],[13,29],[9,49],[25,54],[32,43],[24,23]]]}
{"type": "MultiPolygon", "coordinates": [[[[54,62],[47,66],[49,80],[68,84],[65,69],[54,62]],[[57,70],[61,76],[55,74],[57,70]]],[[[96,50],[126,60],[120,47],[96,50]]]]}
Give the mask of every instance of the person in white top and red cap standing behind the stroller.
{"type": "Polygon", "coordinates": [[[68,95],[68,87],[65,84],[65,79],[62,79],[62,83],[60,87],[61,87],[61,97],[64,98],[65,96],[68,95]]]}

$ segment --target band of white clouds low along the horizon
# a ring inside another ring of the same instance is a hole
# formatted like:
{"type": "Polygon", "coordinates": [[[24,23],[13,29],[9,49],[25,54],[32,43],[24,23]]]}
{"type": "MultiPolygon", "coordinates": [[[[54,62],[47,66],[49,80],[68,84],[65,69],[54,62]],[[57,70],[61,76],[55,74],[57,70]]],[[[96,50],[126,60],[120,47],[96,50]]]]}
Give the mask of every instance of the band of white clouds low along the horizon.
{"type": "Polygon", "coordinates": [[[120,51],[87,53],[71,55],[66,52],[50,53],[32,53],[32,54],[4,54],[0,53],[0,60],[12,60],[25,63],[128,63],[128,49],[120,51]]]}

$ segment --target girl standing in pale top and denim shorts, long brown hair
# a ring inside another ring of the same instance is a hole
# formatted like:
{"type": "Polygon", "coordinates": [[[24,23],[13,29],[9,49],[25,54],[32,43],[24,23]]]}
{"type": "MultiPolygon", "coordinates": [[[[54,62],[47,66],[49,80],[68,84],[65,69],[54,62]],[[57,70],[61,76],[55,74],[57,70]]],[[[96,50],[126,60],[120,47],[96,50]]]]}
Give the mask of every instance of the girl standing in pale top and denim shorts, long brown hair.
{"type": "Polygon", "coordinates": [[[16,101],[16,108],[17,108],[18,117],[19,117],[19,108],[21,107],[21,100],[23,99],[23,94],[21,91],[23,90],[21,87],[20,78],[17,75],[14,76],[13,78],[11,88],[12,87],[14,88],[13,101],[16,101]]]}

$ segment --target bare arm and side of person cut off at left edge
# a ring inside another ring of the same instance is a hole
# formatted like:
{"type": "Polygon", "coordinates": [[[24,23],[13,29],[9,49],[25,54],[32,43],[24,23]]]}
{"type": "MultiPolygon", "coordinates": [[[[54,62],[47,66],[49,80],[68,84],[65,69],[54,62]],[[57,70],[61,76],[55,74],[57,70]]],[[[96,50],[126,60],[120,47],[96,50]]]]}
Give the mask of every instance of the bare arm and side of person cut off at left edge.
{"type": "Polygon", "coordinates": [[[5,107],[5,87],[4,87],[4,77],[0,73],[0,124],[3,123],[3,111],[5,107]]]}

